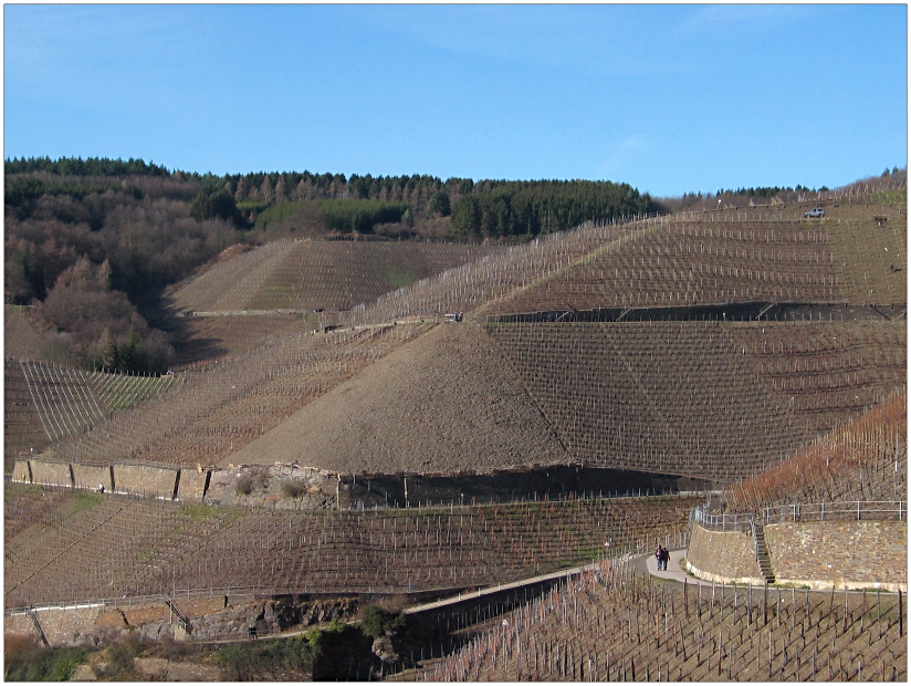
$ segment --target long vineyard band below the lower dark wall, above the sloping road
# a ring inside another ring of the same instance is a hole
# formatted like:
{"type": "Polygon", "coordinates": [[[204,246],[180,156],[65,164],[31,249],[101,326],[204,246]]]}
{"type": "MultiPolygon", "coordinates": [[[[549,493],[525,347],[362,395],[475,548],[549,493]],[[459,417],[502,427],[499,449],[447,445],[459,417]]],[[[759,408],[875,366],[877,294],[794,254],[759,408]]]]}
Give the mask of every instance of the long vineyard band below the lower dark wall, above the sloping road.
{"type": "Polygon", "coordinates": [[[17,507],[28,493],[8,486],[6,495],[8,526],[19,532],[6,541],[7,607],[174,589],[395,593],[486,585],[589,560],[606,536],[615,547],[676,537],[697,502],[622,498],[321,514],[83,493],[34,512],[17,507]]]}

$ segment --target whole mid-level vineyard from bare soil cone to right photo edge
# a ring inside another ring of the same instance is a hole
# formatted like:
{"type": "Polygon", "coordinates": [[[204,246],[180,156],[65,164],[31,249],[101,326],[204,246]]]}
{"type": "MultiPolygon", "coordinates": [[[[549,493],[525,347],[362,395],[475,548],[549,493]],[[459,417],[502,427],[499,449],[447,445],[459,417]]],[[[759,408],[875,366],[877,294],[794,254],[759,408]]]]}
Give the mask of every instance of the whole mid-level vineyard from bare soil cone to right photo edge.
{"type": "Polygon", "coordinates": [[[743,478],[904,380],[903,323],[501,323],[489,331],[572,459],[610,468],[743,478]]]}

